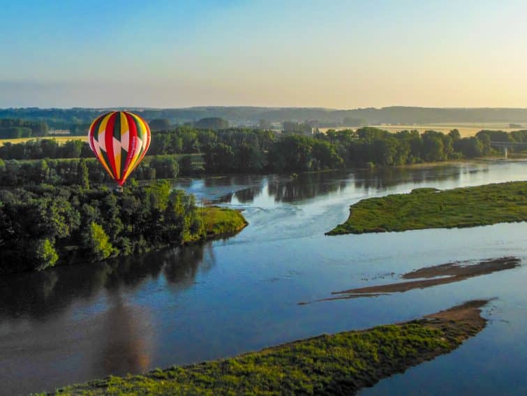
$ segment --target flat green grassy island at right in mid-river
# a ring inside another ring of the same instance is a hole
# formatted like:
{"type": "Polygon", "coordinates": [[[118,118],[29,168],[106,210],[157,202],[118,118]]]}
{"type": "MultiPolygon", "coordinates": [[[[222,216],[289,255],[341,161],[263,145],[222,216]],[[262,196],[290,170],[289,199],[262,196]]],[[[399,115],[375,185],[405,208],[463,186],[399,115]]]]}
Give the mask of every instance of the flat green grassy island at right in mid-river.
{"type": "Polygon", "coordinates": [[[486,226],[527,220],[527,182],[488,184],[368,198],[327,235],[486,226]]]}

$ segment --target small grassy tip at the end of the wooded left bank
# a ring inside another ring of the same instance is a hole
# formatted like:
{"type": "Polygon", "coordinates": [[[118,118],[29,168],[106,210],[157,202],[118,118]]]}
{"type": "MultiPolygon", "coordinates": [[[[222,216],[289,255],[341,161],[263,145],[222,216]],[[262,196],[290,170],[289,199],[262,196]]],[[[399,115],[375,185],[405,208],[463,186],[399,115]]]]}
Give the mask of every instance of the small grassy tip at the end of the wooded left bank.
{"type": "Polygon", "coordinates": [[[202,209],[207,237],[236,233],[247,225],[242,214],[227,207],[209,206],[202,209]]]}

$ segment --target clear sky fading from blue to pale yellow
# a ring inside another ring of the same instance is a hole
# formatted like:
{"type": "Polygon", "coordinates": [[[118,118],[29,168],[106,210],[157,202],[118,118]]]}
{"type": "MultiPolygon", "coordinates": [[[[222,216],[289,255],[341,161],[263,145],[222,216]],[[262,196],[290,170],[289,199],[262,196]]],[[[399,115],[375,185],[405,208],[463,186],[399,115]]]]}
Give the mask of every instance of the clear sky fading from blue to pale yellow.
{"type": "Polygon", "coordinates": [[[527,2],[0,0],[0,108],[527,108],[527,2]]]}

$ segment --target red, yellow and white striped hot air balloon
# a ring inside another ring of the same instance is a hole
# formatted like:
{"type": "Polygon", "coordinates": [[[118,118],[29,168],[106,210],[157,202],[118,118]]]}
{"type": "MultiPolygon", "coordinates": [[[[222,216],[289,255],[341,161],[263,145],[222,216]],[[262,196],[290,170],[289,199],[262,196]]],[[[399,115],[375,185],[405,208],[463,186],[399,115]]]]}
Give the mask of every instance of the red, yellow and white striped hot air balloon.
{"type": "Polygon", "coordinates": [[[147,154],[150,128],[132,112],[112,111],[97,117],[88,131],[89,147],[122,191],[126,178],[147,154]]]}

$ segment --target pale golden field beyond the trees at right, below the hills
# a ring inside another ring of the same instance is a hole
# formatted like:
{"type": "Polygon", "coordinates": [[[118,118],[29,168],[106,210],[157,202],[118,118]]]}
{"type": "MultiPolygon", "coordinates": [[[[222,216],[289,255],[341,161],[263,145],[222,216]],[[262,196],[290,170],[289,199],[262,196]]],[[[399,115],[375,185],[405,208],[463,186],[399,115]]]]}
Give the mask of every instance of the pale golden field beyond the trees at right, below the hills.
{"type": "MultiPolygon", "coordinates": [[[[459,124],[414,124],[414,125],[371,125],[375,128],[379,129],[385,129],[389,132],[399,132],[399,131],[411,131],[413,129],[417,129],[417,131],[420,131],[420,133],[423,133],[424,131],[438,131],[443,133],[449,133],[452,131],[452,129],[459,130],[459,133],[461,133],[462,138],[467,138],[470,136],[475,136],[476,133],[481,131],[482,129],[491,129],[496,131],[518,131],[521,128],[509,128],[509,124],[503,123],[503,122],[492,122],[492,123],[459,123],[459,124]]],[[[321,132],[326,132],[328,129],[332,128],[320,128],[321,132]]],[[[336,128],[336,130],[339,129],[346,129],[346,128],[336,128]]],[[[355,127],[351,129],[356,129],[355,127]]],[[[526,126],[527,129],[527,126],[526,126]]]]}

